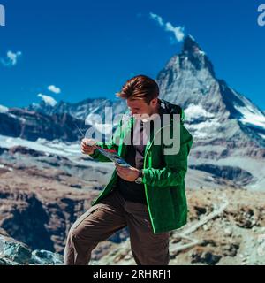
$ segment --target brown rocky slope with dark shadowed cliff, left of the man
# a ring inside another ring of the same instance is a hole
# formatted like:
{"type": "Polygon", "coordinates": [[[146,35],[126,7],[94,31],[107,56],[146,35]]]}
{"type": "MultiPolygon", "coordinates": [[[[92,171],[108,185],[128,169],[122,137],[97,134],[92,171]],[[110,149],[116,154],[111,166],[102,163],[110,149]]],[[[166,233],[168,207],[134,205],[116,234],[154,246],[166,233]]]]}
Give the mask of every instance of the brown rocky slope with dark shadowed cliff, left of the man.
{"type": "MultiPolygon", "coordinates": [[[[74,157],[22,146],[0,148],[0,227],[6,233],[30,249],[63,252],[72,223],[113,170],[113,164],[99,167],[89,157],[74,157]]],[[[126,235],[121,231],[110,240],[119,242],[126,235]]]]}

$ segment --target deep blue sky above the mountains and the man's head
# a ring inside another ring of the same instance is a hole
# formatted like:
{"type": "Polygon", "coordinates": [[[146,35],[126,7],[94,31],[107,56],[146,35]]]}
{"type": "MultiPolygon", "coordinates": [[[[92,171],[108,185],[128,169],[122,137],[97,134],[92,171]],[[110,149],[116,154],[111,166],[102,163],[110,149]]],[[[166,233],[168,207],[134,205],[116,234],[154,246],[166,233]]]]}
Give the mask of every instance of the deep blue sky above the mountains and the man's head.
{"type": "Polygon", "coordinates": [[[262,2],[0,0],[6,14],[0,104],[27,106],[39,102],[39,94],[72,103],[114,98],[134,74],[155,78],[182,42],[151,19],[152,12],[192,34],[216,76],[265,110],[265,26],[257,23],[262,2]]]}

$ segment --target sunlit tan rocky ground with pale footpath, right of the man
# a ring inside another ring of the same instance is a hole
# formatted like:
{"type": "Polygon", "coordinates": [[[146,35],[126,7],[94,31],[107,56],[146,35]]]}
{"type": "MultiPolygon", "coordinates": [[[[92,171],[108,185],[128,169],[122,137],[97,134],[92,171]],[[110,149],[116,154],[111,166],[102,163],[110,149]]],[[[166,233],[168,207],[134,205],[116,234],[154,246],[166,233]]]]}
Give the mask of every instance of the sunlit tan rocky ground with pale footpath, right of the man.
{"type": "MultiPolygon", "coordinates": [[[[170,265],[265,264],[264,193],[223,187],[188,189],[187,196],[189,222],[170,233],[170,265]]],[[[129,240],[91,264],[134,265],[129,240]]]]}

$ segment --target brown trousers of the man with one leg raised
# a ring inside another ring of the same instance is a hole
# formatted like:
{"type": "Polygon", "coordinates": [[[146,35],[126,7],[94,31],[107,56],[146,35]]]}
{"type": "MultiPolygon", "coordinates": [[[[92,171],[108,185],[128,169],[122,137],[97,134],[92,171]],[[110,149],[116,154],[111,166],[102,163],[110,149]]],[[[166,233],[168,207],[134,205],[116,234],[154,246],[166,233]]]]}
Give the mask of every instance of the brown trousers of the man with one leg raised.
{"type": "Polygon", "coordinates": [[[64,249],[64,264],[87,265],[97,244],[125,226],[128,226],[136,264],[169,264],[170,233],[154,234],[148,206],[125,201],[117,190],[92,206],[72,225],[64,249]]]}

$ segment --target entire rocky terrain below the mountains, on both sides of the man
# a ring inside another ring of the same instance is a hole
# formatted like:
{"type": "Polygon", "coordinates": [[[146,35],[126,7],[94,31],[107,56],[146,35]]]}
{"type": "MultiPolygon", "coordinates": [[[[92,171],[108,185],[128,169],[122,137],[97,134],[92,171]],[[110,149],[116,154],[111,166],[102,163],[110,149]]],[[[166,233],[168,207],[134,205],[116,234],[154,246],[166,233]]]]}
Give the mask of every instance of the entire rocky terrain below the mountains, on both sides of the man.
{"type": "MultiPolygon", "coordinates": [[[[13,248],[10,256],[0,252],[0,263],[34,264],[30,258],[39,253],[41,257],[53,258],[45,250],[62,255],[70,226],[100,193],[110,178],[113,164],[100,169],[89,157],[47,156],[21,146],[2,148],[0,152],[2,234],[10,234],[23,247],[21,242],[27,244],[27,261],[12,259],[11,256],[17,258],[17,249],[13,248]],[[78,172],[79,177],[71,172],[78,172]],[[32,254],[35,249],[41,251],[32,254]]],[[[170,233],[170,264],[265,264],[264,193],[249,192],[233,181],[201,173],[188,172],[189,224],[183,231],[192,232],[186,237],[182,230],[170,233]],[[196,189],[190,189],[190,184],[196,189]],[[228,202],[223,210],[208,218],[223,202],[228,202]],[[204,221],[205,218],[208,220],[204,221]],[[181,248],[191,243],[192,246],[181,248]]],[[[53,264],[53,259],[40,264],[53,264]]],[[[135,264],[127,229],[100,243],[90,264],[135,264]]]]}

